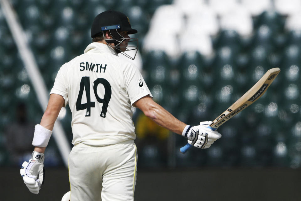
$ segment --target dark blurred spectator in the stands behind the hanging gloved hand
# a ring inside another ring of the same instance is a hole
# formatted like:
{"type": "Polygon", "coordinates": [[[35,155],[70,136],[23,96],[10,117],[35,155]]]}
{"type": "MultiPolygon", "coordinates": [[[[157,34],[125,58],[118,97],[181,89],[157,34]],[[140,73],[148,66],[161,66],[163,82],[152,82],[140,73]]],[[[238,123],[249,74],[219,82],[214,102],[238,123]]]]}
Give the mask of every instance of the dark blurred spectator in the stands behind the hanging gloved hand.
{"type": "Polygon", "coordinates": [[[15,115],[15,121],[6,126],[4,133],[9,162],[12,166],[20,166],[32,154],[34,123],[28,120],[27,108],[24,103],[17,105],[15,115]]]}

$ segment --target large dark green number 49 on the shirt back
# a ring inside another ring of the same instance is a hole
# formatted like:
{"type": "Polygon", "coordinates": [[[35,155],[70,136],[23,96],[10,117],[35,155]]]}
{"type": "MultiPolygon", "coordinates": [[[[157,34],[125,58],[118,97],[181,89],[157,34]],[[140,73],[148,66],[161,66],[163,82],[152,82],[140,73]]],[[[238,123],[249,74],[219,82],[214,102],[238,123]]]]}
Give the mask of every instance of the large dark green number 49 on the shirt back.
{"type": "MultiPolygon", "coordinates": [[[[95,107],[95,102],[92,102],[91,97],[90,97],[90,77],[82,77],[82,80],[81,80],[81,83],[79,84],[79,86],[80,86],[80,88],[79,88],[79,93],[78,93],[77,101],[76,101],[76,110],[79,111],[79,110],[86,109],[86,117],[90,117],[91,116],[91,107],[95,107]],[[87,96],[87,103],[82,103],[82,95],[83,95],[84,89],[85,89],[86,96],[87,96]]],[[[111,85],[108,82],[108,80],[106,80],[104,78],[98,78],[93,83],[93,90],[94,90],[94,95],[96,97],[96,100],[99,103],[103,103],[102,111],[100,112],[100,117],[105,118],[106,113],[107,113],[108,104],[109,104],[109,101],[110,101],[111,95],[112,95],[111,85]],[[98,84],[102,84],[104,86],[103,99],[100,98],[97,94],[98,84]]]]}

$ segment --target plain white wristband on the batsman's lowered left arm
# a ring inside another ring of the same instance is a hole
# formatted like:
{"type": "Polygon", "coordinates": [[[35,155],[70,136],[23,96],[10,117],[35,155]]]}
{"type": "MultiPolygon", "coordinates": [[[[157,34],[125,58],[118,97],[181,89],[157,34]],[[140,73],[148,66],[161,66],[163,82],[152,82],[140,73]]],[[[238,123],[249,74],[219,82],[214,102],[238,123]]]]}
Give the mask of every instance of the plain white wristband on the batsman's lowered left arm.
{"type": "Polygon", "coordinates": [[[44,128],[40,124],[34,127],[34,139],[32,145],[35,147],[47,147],[52,131],[44,128]]]}

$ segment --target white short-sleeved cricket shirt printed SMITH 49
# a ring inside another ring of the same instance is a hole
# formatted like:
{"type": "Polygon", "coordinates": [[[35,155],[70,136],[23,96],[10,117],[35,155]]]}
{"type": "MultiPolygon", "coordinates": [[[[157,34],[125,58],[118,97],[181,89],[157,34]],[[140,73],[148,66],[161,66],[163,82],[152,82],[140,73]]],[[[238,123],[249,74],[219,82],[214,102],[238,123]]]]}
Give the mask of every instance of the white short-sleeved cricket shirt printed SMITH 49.
{"type": "Polygon", "coordinates": [[[84,54],[61,66],[50,94],[72,112],[72,144],[119,144],[136,137],[132,104],[151,95],[135,65],[109,46],[91,43],[84,54]]]}

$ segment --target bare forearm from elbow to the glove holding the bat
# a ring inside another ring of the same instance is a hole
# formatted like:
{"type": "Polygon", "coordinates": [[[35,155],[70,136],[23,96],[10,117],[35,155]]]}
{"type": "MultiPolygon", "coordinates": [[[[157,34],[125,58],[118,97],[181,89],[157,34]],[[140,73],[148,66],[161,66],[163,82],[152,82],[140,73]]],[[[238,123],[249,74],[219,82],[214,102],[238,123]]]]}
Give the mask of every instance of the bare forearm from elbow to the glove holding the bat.
{"type": "Polygon", "coordinates": [[[152,119],[159,126],[182,135],[182,131],[186,126],[184,122],[178,120],[171,113],[155,102],[151,103],[148,108],[149,109],[144,112],[147,117],[152,119]]]}

